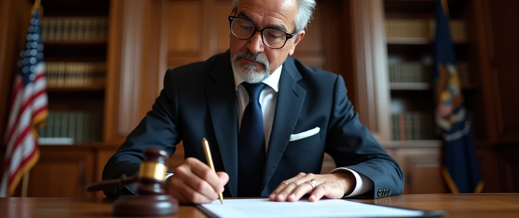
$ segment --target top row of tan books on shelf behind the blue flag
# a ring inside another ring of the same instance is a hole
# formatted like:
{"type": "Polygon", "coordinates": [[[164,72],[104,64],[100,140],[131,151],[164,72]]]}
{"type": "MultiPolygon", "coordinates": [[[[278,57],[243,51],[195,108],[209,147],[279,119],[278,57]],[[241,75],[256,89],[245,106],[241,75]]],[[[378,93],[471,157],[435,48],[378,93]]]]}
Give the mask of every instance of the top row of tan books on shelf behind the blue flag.
{"type": "MultiPolygon", "coordinates": [[[[465,21],[451,20],[450,34],[453,41],[467,40],[465,21]]],[[[434,39],[436,21],[433,19],[388,19],[386,20],[387,38],[426,38],[434,39]]]]}

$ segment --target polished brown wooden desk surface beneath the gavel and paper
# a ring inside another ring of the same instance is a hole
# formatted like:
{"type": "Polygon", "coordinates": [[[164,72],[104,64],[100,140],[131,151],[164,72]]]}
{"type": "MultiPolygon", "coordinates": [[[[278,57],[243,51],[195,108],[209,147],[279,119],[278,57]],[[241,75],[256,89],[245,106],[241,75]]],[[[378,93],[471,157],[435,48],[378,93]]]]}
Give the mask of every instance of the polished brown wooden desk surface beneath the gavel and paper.
{"type": "MultiPolygon", "coordinates": [[[[519,217],[519,194],[424,194],[399,195],[364,203],[418,210],[445,210],[446,217],[519,217]]],[[[225,200],[224,200],[225,204],[225,200]]],[[[0,198],[0,217],[113,217],[105,198],[0,198]]],[[[193,206],[161,217],[206,217],[193,206]]]]}

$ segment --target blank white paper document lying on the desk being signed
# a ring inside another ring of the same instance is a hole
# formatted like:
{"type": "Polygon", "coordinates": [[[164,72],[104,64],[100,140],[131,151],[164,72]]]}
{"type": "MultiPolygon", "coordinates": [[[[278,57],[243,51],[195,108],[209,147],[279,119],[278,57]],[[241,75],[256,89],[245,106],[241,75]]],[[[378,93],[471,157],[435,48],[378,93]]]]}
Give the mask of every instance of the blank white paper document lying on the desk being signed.
{"type": "Polygon", "coordinates": [[[424,211],[407,210],[358,203],[342,199],[321,199],[317,202],[276,202],[264,199],[224,199],[203,204],[214,215],[227,217],[419,217],[424,211]]]}

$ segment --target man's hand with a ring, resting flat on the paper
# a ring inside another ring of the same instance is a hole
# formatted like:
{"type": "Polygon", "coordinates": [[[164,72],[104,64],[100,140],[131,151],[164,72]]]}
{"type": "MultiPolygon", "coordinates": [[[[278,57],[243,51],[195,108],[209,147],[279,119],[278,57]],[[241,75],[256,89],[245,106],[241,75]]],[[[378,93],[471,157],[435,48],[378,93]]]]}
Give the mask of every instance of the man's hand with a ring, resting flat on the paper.
{"type": "Polygon", "coordinates": [[[353,192],[356,180],[352,173],[340,171],[333,174],[315,175],[299,173],[294,178],[285,180],[270,194],[271,201],[297,201],[305,194],[310,194],[310,201],[327,198],[342,198],[353,192]],[[316,180],[316,188],[308,182],[316,180]]]}

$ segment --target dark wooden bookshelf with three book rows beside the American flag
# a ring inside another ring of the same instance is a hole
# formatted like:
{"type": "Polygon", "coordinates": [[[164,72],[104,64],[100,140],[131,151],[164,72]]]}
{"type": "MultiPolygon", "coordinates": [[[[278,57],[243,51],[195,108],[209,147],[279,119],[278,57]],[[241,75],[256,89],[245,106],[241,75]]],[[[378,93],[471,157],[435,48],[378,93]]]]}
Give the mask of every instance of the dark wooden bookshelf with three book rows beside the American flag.
{"type": "Polygon", "coordinates": [[[110,1],[42,5],[49,117],[40,145],[102,143],[110,1]]]}

